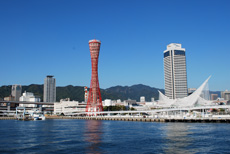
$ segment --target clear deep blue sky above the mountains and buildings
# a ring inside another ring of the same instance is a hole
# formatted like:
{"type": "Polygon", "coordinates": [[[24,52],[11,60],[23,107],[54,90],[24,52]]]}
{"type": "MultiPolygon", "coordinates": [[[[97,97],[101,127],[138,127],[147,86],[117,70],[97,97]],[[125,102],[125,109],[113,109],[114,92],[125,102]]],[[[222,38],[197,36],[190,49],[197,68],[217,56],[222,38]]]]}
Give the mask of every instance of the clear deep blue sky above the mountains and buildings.
{"type": "Polygon", "coordinates": [[[163,51],[186,49],[188,87],[230,89],[230,1],[1,0],[0,85],[89,86],[90,39],[101,40],[101,88],[164,88],[163,51]]]}

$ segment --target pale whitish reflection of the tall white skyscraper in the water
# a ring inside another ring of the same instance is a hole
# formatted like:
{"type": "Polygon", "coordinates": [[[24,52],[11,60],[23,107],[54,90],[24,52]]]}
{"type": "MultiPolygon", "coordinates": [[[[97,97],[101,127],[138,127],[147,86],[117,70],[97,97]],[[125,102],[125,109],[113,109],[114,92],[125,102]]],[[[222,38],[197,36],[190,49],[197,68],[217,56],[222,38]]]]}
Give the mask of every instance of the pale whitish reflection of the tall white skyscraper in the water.
{"type": "Polygon", "coordinates": [[[166,146],[165,153],[196,153],[191,145],[194,143],[192,132],[189,130],[189,125],[185,123],[167,124],[163,128],[165,130],[166,146]]]}

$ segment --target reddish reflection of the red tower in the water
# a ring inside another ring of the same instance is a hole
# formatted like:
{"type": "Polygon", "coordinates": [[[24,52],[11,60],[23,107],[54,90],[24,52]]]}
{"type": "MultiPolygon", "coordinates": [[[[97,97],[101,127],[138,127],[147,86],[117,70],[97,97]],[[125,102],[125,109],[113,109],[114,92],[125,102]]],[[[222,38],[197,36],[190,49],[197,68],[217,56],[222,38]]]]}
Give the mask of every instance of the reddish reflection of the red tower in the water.
{"type": "Polygon", "coordinates": [[[88,145],[86,147],[87,153],[101,154],[102,122],[99,120],[87,120],[85,127],[84,137],[88,145]]]}

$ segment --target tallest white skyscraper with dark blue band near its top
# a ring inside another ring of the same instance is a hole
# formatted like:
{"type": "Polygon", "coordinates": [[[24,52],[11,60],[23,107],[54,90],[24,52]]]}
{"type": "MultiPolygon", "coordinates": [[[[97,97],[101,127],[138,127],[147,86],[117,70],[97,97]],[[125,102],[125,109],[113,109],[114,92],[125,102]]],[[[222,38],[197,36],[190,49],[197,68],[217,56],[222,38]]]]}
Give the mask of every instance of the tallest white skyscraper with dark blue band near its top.
{"type": "Polygon", "coordinates": [[[164,51],[165,95],[171,99],[188,95],[185,49],[171,43],[164,51]]]}

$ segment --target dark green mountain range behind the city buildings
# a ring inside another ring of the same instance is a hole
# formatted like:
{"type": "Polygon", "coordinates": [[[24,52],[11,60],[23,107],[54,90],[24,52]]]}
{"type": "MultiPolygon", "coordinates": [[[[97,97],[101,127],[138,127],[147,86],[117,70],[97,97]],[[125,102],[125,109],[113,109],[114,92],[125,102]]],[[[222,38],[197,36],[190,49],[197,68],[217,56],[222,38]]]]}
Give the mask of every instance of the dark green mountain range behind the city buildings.
{"type": "MultiPolygon", "coordinates": [[[[7,97],[11,94],[12,86],[0,87],[0,98],[7,97]]],[[[115,86],[107,89],[101,89],[101,97],[104,99],[117,100],[121,99],[134,99],[139,101],[141,96],[145,96],[146,101],[151,98],[158,99],[158,90],[163,89],[152,88],[146,85],[138,84],[133,86],[115,86]]],[[[22,86],[22,92],[32,92],[36,96],[40,96],[43,100],[43,85],[31,84],[29,86],[22,86]]],[[[70,98],[71,100],[83,101],[84,100],[84,87],[68,85],[65,87],[57,87],[56,89],[57,101],[63,98],[70,98]]]]}

